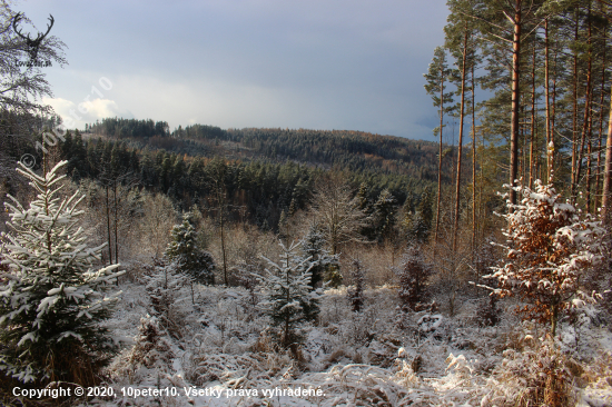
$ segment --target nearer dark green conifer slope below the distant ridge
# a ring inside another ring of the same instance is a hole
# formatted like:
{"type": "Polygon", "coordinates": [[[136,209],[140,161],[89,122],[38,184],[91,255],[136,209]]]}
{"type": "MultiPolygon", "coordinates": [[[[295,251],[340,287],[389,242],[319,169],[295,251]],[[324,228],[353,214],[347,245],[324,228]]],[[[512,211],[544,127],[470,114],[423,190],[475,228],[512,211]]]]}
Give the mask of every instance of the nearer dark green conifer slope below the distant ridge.
{"type": "MultiPolygon", "coordinates": [[[[145,121],[129,122],[146,125],[145,121]]],[[[155,127],[152,121],[150,123],[152,131],[155,127]]],[[[177,133],[179,131],[181,130],[177,130],[177,133]]],[[[407,211],[414,211],[423,199],[427,200],[426,205],[432,205],[435,188],[430,179],[423,177],[427,171],[426,168],[435,165],[431,157],[434,152],[428,151],[431,150],[428,143],[423,143],[425,148],[418,150],[411,148],[412,142],[388,138],[387,142],[391,147],[394,145],[402,147],[401,152],[395,153],[393,149],[389,151],[378,147],[372,149],[372,153],[351,155],[346,152],[348,147],[362,145],[365,146],[363,149],[367,150],[368,146],[374,146],[375,142],[368,143],[362,140],[365,136],[353,136],[354,140],[345,143],[342,136],[335,136],[332,132],[320,133],[318,138],[322,141],[317,146],[329,146],[330,150],[320,155],[320,160],[302,161],[283,155],[267,157],[257,151],[254,152],[248,145],[254,143],[253,140],[258,137],[244,136],[250,135],[250,131],[230,131],[228,138],[240,135],[247,140],[245,143],[231,141],[231,146],[228,145],[230,142],[228,139],[219,141],[218,138],[187,139],[162,135],[117,140],[115,137],[96,138],[96,133],[81,135],[78,130],[67,131],[65,140],[60,140],[57,145],[57,155],[59,159],[68,161],[66,171],[76,182],[86,179],[102,186],[131,182],[132,187],[167,195],[176,202],[177,208],[182,210],[188,210],[194,205],[203,205],[206,208],[217,206],[218,204],[215,202],[218,197],[213,192],[216,188],[223,188],[225,205],[231,208],[227,214],[229,219],[248,220],[263,230],[278,231],[283,212],[295,214],[297,210],[305,209],[312,198],[315,182],[326,177],[329,171],[345,173],[355,193],[359,190],[361,199],[366,202],[364,205],[369,208],[369,211],[373,210],[383,191],[388,191],[394,197],[394,211],[398,211],[403,206],[407,206],[407,211]],[[337,149],[334,147],[335,143],[338,145],[337,149]],[[245,145],[247,147],[244,147],[245,145]],[[415,158],[408,160],[404,158],[408,156],[408,149],[424,152],[414,153],[415,158]],[[235,153],[240,150],[250,151],[250,153],[235,153]],[[233,159],[230,158],[233,156],[240,156],[240,158],[233,159]],[[389,159],[383,159],[383,156],[389,159]],[[359,162],[362,166],[355,165],[353,169],[349,163],[343,165],[342,160],[359,162]],[[415,167],[414,161],[427,165],[415,167]],[[414,173],[408,176],[401,171],[392,171],[389,166],[403,166],[406,172],[412,173],[411,171],[414,170],[414,173]]],[[[273,135],[278,136],[274,132],[273,135]]],[[[103,132],[100,136],[103,136],[103,132]]],[[[234,139],[238,138],[238,136],[234,137],[234,139]]],[[[261,138],[264,142],[260,146],[284,145],[282,141],[276,143],[274,141],[276,138],[273,136],[261,138]]],[[[278,136],[278,139],[282,137],[278,136]]],[[[304,139],[312,140],[316,137],[306,136],[304,139]]],[[[290,145],[287,140],[293,138],[285,137],[286,145],[290,145]]],[[[414,146],[421,146],[421,143],[414,143],[414,146]]],[[[295,153],[303,151],[302,147],[288,150],[295,153]]],[[[33,149],[32,152],[34,152],[33,149]]],[[[315,155],[310,158],[314,159],[315,155]]],[[[451,162],[450,159],[447,161],[451,162]]],[[[431,222],[431,219],[428,221],[431,222]]]]}

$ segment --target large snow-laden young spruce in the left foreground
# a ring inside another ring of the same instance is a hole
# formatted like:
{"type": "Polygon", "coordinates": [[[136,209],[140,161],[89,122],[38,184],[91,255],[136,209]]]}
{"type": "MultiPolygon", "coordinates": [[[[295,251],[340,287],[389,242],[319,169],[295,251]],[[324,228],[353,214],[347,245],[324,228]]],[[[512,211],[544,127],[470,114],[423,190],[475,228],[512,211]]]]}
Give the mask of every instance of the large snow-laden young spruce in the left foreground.
{"type": "Polygon", "coordinates": [[[45,176],[20,162],[17,171],[38,192],[28,209],[9,196],[10,220],[2,235],[0,279],[0,369],[23,383],[97,383],[95,369],[108,361],[116,344],[107,328],[120,292],[110,292],[119,265],[96,269],[102,246],[89,248],[79,227],[79,191],[57,197],[65,176],[61,161],[45,176]]]}

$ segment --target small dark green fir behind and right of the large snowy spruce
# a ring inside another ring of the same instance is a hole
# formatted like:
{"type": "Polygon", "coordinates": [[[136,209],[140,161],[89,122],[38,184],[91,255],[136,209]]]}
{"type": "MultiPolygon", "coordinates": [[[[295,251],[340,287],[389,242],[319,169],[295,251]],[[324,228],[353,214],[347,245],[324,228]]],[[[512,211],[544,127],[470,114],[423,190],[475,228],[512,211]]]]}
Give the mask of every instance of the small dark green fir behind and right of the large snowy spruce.
{"type": "Polygon", "coordinates": [[[190,275],[196,281],[214,284],[215,260],[209,252],[198,247],[198,236],[191,225],[190,216],[189,212],[185,214],[182,222],[172,228],[166,256],[177,264],[179,270],[190,275]]]}

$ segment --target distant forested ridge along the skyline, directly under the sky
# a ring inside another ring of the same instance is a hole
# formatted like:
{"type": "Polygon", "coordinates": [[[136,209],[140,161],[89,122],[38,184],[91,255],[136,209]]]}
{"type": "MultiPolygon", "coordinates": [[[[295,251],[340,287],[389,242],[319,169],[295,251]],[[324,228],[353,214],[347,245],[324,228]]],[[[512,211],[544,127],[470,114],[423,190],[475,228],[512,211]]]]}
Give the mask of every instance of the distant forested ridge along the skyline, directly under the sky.
{"type": "MultiPolygon", "coordinates": [[[[437,146],[433,142],[345,130],[227,129],[194,125],[169,131],[166,122],[102,119],[86,131],[195,156],[233,159],[266,158],[351,171],[406,175],[419,180],[437,177],[437,146]]],[[[447,166],[451,168],[451,166],[447,166]]]]}

